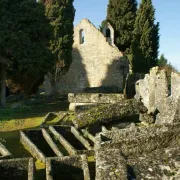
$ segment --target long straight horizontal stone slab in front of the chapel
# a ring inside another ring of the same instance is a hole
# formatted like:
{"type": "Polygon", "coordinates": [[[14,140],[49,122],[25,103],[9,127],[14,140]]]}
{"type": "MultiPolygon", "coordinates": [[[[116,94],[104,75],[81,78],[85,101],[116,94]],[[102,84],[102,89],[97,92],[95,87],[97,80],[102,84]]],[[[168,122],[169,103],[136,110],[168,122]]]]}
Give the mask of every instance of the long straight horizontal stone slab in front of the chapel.
{"type": "Polygon", "coordinates": [[[123,94],[99,94],[99,93],[79,93],[68,94],[68,101],[70,103],[119,103],[124,100],[123,94]]]}

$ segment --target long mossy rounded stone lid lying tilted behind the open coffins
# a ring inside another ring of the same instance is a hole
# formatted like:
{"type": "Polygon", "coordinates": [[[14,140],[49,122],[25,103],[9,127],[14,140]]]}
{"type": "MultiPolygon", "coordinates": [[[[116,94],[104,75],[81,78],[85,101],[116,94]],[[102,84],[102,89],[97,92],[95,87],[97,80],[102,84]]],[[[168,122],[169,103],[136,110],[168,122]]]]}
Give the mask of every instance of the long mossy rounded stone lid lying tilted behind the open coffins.
{"type": "Polygon", "coordinates": [[[147,112],[142,103],[135,99],[127,99],[121,103],[101,105],[79,113],[73,122],[78,127],[86,127],[93,124],[120,121],[124,117],[138,115],[140,112],[147,112]]]}

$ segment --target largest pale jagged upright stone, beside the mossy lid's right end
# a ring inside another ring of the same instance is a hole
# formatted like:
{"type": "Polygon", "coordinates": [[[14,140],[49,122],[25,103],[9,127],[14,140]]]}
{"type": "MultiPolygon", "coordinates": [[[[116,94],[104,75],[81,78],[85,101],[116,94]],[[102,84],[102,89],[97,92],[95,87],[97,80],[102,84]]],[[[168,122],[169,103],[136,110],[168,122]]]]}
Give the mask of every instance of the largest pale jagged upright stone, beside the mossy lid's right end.
{"type": "Polygon", "coordinates": [[[154,67],[150,74],[136,83],[135,98],[143,102],[148,108],[148,113],[164,110],[164,104],[168,97],[168,83],[165,70],[158,70],[154,67]]]}

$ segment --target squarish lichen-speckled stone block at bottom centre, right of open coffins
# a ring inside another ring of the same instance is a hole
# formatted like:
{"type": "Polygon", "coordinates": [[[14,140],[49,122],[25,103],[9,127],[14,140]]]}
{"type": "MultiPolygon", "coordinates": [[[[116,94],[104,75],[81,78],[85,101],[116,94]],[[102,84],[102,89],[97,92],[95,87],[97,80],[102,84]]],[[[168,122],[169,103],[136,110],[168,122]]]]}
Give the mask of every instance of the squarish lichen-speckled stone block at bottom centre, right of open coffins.
{"type": "Polygon", "coordinates": [[[127,164],[119,149],[96,152],[96,180],[127,180],[127,164]]]}

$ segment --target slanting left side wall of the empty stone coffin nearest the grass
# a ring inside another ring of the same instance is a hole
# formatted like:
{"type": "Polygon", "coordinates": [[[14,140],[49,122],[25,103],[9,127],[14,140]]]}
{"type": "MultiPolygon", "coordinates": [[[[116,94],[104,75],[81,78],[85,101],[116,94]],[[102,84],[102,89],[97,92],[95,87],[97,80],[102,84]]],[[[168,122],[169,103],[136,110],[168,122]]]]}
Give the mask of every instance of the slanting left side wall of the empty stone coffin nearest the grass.
{"type": "Polygon", "coordinates": [[[37,148],[37,146],[26,136],[26,134],[20,131],[20,142],[28,149],[28,151],[37,159],[45,162],[46,156],[37,148]]]}

